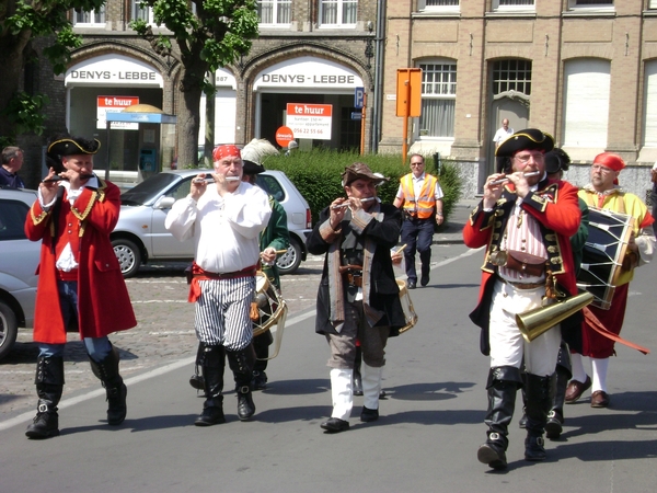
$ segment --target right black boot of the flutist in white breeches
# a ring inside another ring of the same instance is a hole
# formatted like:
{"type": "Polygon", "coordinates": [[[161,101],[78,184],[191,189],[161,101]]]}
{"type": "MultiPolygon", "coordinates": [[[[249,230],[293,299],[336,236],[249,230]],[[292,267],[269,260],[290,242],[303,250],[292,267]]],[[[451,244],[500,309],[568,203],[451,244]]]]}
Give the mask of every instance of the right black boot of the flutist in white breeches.
{"type": "Polygon", "coordinates": [[[548,422],[548,413],[552,408],[555,379],[552,376],[539,377],[527,374],[527,438],[525,439],[525,459],[544,460],[543,432],[548,422]]]}

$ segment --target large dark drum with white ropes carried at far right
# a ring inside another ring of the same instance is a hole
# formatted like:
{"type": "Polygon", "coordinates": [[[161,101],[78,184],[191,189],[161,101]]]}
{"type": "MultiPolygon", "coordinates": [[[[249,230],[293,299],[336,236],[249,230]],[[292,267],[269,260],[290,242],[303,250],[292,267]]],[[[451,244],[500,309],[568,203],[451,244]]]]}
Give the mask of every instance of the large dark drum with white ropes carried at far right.
{"type": "Polygon", "coordinates": [[[609,310],[632,234],[634,218],[589,207],[589,236],[577,287],[593,295],[592,306],[609,310]]]}

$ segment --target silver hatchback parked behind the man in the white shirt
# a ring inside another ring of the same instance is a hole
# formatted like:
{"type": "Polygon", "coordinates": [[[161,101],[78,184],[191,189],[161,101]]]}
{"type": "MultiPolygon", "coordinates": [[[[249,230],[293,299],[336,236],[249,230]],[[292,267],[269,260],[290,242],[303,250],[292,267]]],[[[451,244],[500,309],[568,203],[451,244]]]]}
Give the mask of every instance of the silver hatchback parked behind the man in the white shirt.
{"type": "MultiPolygon", "coordinates": [[[[134,276],[141,264],[153,261],[194,259],[194,239],[181,242],[164,228],[166,213],[178,198],[189,194],[192,179],[211,170],[164,171],[120,196],[118,223],[111,236],[114,252],[125,277],[134,276]]],[[[310,207],[281,171],[267,170],[256,184],[285,208],[290,246],[276,261],[280,274],[291,274],[306,260],[306,238],[311,231],[310,207]]]]}

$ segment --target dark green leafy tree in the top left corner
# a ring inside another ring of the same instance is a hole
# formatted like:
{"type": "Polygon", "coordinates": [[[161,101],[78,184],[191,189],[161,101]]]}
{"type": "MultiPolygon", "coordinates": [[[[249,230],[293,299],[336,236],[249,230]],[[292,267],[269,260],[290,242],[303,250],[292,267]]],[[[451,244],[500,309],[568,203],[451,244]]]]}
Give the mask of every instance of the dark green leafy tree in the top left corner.
{"type": "Polygon", "coordinates": [[[36,61],[32,41],[51,36],[43,55],[55,73],[66,70],[70,50],[82,39],[72,31],[68,12],[100,9],[105,0],[2,0],[0,2],[0,146],[13,142],[19,134],[44,129],[43,107],[48,99],[20,90],[25,65],[36,61]]]}

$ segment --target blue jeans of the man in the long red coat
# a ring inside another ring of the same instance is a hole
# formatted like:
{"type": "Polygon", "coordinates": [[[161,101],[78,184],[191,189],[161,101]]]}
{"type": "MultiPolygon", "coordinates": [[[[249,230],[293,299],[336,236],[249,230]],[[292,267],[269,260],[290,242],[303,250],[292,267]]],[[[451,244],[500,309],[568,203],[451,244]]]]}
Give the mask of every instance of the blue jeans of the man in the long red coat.
{"type": "MultiPolygon", "coordinates": [[[[78,317],[78,282],[58,280],[59,307],[64,319],[64,326],[68,326],[72,317],[78,317]]],[[[87,354],[94,362],[100,363],[107,357],[112,351],[112,343],[106,335],[102,337],[84,337],[87,354]]],[[[39,357],[62,357],[66,344],[38,343],[39,357]]]]}

